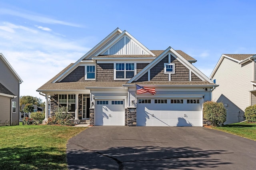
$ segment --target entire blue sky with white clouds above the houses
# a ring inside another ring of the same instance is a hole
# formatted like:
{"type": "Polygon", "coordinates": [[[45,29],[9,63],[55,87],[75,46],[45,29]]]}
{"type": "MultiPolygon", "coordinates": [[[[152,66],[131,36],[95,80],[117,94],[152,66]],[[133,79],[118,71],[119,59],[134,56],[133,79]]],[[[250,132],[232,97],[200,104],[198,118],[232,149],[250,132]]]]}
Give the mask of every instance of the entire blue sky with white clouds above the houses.
{"type": "Polygon", "coordinates": [[[1,0],[0,53],[36,89],[116,28],[150,50],[169,46],[197,59],[206,76],[223,53],[256,53],[254,0],[1,0]]]}

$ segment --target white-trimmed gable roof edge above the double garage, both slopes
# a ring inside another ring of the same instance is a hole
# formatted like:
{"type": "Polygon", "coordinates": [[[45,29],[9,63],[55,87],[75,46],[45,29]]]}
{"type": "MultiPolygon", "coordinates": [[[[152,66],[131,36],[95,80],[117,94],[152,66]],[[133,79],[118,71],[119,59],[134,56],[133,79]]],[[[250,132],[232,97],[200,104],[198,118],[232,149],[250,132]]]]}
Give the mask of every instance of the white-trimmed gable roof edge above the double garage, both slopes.
{"type": "MultiPolygon", "coordinates": [[[[154,61],[149,63],[144,69],[142,69],[138,74],[136,74],[132,79],[130,79],[127,83],[132,83],[133,81],[138,80],[141,76],[143,76],[148,70],[152,69],[154,65],[156,65],[159,61],[161,61],[166,54],[170,52],[173,56],[178,59],[183,65],[185,65],[188,69],[192,70],[195,75],[197,75],[202,81],[208,81],[209,83],[213,83],[206,75],[204,75],[201,71],[199,71],[194,65],[192,65],[189,61],[187,61],[182,55],[180,55],[177,51],[175,51],[172,47],[168,47],[165,51],[163,51],[154,61]]],[[[182,51],[183,52],[183,51],[182,51]]],[[[180,52],[181,53],[181,52],[180,52]]]]}

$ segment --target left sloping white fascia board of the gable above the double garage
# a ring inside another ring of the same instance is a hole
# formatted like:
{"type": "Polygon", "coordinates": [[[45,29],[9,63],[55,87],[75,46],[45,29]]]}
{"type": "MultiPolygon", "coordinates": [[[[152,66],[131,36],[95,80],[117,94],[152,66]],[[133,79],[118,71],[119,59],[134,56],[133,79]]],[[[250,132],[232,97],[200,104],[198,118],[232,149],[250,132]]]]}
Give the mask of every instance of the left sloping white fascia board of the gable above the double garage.
{"type": "Polygon", "coordinates": [[[165,55],[172,47],[168,47],[164,52],[162,52],[158,57],[156,57],[151,63],[149,63],[144,69],[142,69],[138,74],[132,77],[127,83],[132,83],[132,81],[137,80],[140,76],[144,75],[148,70],[150,70],[154,65],[156,65],[160,59],[162,59],[163,55],[165,55]]]}

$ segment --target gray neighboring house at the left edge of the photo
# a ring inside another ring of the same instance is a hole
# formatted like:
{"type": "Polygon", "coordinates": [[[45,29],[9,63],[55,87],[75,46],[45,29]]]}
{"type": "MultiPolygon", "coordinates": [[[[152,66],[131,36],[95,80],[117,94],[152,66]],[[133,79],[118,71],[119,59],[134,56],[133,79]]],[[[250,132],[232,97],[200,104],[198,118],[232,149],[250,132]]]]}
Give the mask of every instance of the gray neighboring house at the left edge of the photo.
{"type": "Polygon", "coordinates": [[[0,53],[0,126],[19,125],[22,79],[0,53]]]}

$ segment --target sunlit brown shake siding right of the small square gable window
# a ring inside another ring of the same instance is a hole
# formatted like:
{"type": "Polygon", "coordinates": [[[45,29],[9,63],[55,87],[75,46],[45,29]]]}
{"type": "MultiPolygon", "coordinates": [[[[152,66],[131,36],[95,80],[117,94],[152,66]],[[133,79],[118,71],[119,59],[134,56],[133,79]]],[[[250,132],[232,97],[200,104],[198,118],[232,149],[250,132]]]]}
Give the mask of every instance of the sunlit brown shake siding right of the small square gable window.
{"type": "Polygon", "coordinates": [[[171,63],[175,64],[175,74],[171,74],[171,81],[189,81],[189,69],[172,56],[171,63]]]}

